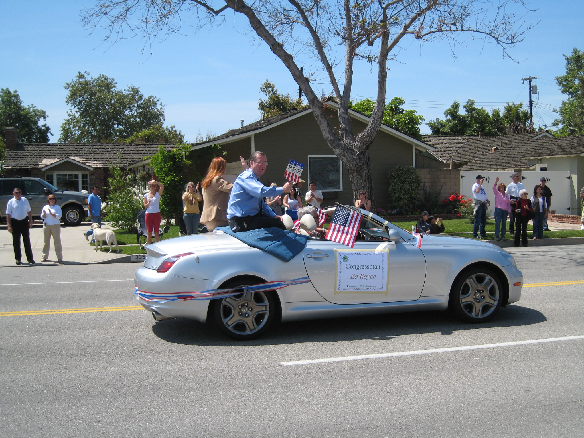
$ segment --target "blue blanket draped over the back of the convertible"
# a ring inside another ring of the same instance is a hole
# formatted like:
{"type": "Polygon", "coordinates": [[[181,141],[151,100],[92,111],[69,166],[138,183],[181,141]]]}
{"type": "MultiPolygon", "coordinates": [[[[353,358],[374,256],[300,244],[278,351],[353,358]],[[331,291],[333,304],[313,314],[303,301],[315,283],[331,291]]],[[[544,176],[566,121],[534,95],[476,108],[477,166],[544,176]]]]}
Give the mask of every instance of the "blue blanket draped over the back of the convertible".
{"type": "Polygon", "coordinates": [[[284,262],[290,262],[298,253],[302,252],[306,241],[311,239],[303,234],[280,230],[276,227],[240,232],[233,232],[229,227],[218,227],[217,229],[223,230],[245,244],[261,249],[284,262]]]}

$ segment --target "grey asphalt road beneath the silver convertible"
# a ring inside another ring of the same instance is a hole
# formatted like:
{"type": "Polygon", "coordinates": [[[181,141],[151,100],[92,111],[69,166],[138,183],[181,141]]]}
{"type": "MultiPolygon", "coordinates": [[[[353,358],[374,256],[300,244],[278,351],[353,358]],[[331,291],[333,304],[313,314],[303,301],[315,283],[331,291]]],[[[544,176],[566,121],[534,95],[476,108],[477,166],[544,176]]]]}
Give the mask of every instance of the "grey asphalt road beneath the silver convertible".
{"type": "MultiPolygon", "coordinates": [[[[584,280],[583,250],[509,252],[533,284],[584,280]]],[[[584,335],[584,284],[526,287],[488,324],[418,312],[288,323],[238,343],[186,319],[95,311],[136,304],[135,267],[0,269],[2,312],[91,310],[0,317],[0,436],[584,436],[584,339],[281,365],[584,335]],[[95,280],[121,281],[79,283],[95,280]]]]}

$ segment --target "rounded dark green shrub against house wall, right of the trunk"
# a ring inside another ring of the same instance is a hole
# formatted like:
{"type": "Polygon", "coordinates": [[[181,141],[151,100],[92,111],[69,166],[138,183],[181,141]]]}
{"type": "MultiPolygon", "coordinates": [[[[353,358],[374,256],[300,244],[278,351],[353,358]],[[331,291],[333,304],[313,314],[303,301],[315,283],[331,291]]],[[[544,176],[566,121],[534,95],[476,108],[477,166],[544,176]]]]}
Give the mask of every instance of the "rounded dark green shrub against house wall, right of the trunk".
{"type": "Polygon", "coordinates": [[[422,180],[416,169],[398,164],[387,172],[387,176],[390,179],[387,191],[391,209],[417,210],[419,204],[418,191],[422,180]]]}

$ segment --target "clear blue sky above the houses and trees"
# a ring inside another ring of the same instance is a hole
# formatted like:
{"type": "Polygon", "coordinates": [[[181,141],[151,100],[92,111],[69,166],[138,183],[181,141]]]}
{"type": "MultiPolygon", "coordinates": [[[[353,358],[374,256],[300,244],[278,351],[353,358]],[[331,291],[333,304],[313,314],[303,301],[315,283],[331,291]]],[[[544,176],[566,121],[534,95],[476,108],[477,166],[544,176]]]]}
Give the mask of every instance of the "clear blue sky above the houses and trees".
{"type": "MultiPolygon", "coordinates": [[[[0,0],[0,87],[17,89],[23,102],[46,110],[56,141],[67,116],[65,82],[78,71],[105,74],[120,88],[139,86],[144,95],[154,95],[166,105],[165,124],[174,124],[194,141],[197,133],[221,134],[259,119],[259,87],[265,79],[284,93],[297,93],[288,71],[265,44],[252,43],[240,19],[229,19],[215,29],[175,34],[154,44],[152,55],[142,55],[139,39],[114,46],[102,44],[102,30],[93,34],[82,27],[79,11],[88,0],[18,2],[0,0]]],[[[584,50],[582,0],[533,0],[527,20],[539,21],[523,43],[510,50],[521,62],[504,58],[494,44],[468,40],[453,57],[446,42],[417,41],[402,44],[398,62],[390,63],[387,100],[406,99],[426,121],[443,118],[453,100],[474,99],[477,106],[499,107],[505,102],[527,101],[521,79],[536,76],[539,101],[534,123],[551,124],[552,107],[562,95],[554,78],[565,71],[562,54],[574,47],[584,50]]],[[[354,98],[376,95],[376,74],[369,65],[356,68],[354,98]]],[[[328,90],[325,89],[328,92],[328,90]]],[[[429,128],[422,125],[422,133],[429,128]]]]}

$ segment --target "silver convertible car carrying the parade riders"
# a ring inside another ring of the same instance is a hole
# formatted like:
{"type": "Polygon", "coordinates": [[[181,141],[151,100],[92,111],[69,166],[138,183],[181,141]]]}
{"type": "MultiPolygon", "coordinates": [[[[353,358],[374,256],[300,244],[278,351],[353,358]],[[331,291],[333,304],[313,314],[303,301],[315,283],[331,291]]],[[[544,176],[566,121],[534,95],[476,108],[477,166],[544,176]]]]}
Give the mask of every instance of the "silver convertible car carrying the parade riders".
{"type": "Polygon", "coordinates": [[[363,215],[354,248],[308,239],[288,262],[221,230],[146,249],[135,294],[154,319],[213,321],[239,340],[277,321],[392,312],[450,310],[485,322],[519,300],[523,283],[498,246],[442,235],[423,235],[420,245],[374,214],[363,215]]]}

